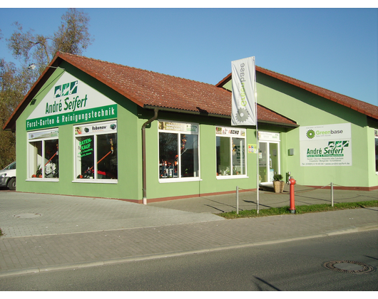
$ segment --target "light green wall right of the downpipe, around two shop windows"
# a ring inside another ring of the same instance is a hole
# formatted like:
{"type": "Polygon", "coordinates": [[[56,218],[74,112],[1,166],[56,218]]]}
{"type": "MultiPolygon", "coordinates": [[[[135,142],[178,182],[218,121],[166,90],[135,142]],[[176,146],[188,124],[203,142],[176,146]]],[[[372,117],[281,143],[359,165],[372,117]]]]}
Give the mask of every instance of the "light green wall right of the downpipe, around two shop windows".
{"type": "MultiPolygon", "coordinates": [[[[153,115],[151,114],[150,117],[153,115]]],[[[150,118],[149,117],[149,118],[150,118]]],[[[140,127],[146,119],[140,122],[140,127]]],[[[147,199],[176,196],[199,196],[217,192],[235,192],[240,189],[256,188],[256,155],[247,154],[247,178],[217,179],[216,176],[216,136],[215,126],[230,127],[228,119],[213,119],[198,115],[158,112],[158,120],[180,122],[198,122],[200,124],[200,181],[195,182],[159,182],[158,172],[158,121],[152,122],[146,129],[147,151],[147,199]]],[[[247,144],[256,143],[255,130],[247,129],[247,144]]]]}

